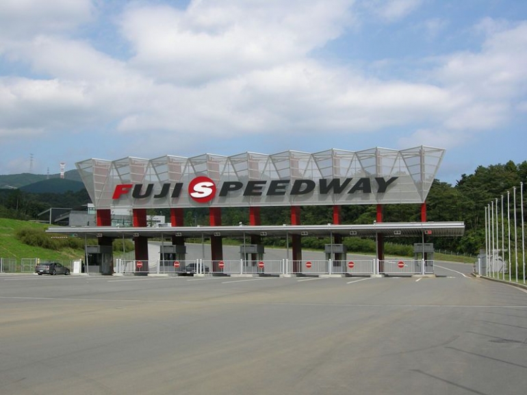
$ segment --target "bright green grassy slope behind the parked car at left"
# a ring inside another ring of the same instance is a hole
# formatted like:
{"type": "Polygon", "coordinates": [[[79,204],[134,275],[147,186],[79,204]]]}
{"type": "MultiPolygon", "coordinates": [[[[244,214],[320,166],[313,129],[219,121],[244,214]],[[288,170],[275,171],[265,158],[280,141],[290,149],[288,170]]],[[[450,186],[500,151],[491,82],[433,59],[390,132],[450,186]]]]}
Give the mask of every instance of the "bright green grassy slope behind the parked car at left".
{"type": "Polygon", "coordinates": [[[0,218],[0,257],[1,258],[40,258],[42,260],[70,260],[79,259],[83,256],[83,251],[74,251],[66,249],[64,251],[53,251],[42,249],[40,247],[28,246],[23,244],[15,237],[17,229],[21,228],[47,229],[48,225],[42,225],[36,222],[27,222],[0,218]]]}

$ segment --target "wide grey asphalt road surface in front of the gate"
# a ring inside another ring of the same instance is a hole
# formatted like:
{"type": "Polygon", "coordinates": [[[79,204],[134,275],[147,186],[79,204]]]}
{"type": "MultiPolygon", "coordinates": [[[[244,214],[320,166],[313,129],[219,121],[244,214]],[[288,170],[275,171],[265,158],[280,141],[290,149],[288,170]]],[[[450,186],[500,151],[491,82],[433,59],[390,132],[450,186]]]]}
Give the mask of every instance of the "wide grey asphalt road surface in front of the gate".
{"type": "Polygon", "coordinates": [[[0,394],[522,394],[527,293],[413,277],[0,276],[0,394]]]}

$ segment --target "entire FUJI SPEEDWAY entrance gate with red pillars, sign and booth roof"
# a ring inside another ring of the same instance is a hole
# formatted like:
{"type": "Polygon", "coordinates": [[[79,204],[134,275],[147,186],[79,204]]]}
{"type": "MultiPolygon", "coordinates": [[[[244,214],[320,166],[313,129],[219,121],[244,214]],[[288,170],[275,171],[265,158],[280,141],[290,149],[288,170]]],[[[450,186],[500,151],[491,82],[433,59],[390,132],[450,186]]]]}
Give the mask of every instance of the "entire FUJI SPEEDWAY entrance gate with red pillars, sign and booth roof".
{"type": "MultiPolygon", "coordinates": [[[[140,269],[146,273],[151,272],[148,253],[151,238],[170,240],[174,246],[185,246],[188,238],[209,240],[209,270],[217,272],[219,262],[224,260],[222,240],[229,237],[243,239],[244,243],[248,238],[250,245],[263,244],[264,238],[285,238],[292,251],[283,270],[286,273],[348,274],[349,269],[366,274],[368,264],[354,262],[350,267],[344,252],[340,257],[331,256],[329,267],[327,259],[327,262],[311,262],[309,268],[303,266],[302,238],[329,237],[331,244],[336,246],[345,244],[346,238],[368,237],[375,238],[377,246],[373,272],[396,272],[400,269],[398,266],[392,267],[391,261],[385,262],[385,238],[413,237],[424,243],[431,237],[459,236],[464,232],[463,222],[426,220],[426,197],[444,152],[444,149],[416,146],[404,150],[376,147],[364,151],[329,149],[318,153],[283,151],[272,155],[246,152],[232,156],[166,155],[152,160],[138,157],[114,161],[90,159],[77,162],[76,166],[95,206],[97,226],[51,227],[47,231],[74,233],[85,240],[97,238],[104,246],[110,246],[114,239],[131,239],[135,245],[135,261],[142,262],[140,269]],[[387,204],[420,204],[421,221],[384,222],[383,207],[387,204]],[[303,224],[300,207],[309,205],[333,207],[331,221],[327,225],[303,224]],[[343,205],[375,205],[376,220],[365,225],[344,224],[343,205]],[[260,208],[268,206],[290,207],[290,223],[262,226],[260,208]],[[185,209],[196,207],[207,207],[209,225],[185,224],[185,209]],[[248,207],[249,223],[223,225],[222,207],[248,207]],[[119,227],[114,223],[114,209],[128,209],[133,226],[119,227]],[[149,227],[148,209],[170,209],[170,226],[149,227]]],[[[245,253],[247,255],[247,251],[245,253]]],[[[185,260],[182,258],[177,260],[185,260]]],[[[243,260],[246,268],[242,267],[242,272],[261,272],[258,266],[261,259],[243,260]],[[247,267],[249,263],[250,268],[247,267]]],[[[231,271],[237,270],[237,263],[223,264],[223,269],[232,266],[231,271]]],[[[168,270],[168,266],[164,267],[168,270]]],[[[410,262],[402,268],[416,270],[410,262]]]]}

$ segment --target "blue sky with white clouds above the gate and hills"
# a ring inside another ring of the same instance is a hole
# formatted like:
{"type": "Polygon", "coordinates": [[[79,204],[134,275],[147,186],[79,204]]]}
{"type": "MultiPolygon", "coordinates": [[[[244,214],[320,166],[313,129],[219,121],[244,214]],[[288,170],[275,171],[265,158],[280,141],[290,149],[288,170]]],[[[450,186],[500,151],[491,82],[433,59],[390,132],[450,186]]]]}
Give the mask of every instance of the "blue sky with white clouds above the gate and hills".
{"type": "Polygon", "coordinates": [[[0,174],[92,157],[527,160],[527,1],[3,0],[0,174]]]}

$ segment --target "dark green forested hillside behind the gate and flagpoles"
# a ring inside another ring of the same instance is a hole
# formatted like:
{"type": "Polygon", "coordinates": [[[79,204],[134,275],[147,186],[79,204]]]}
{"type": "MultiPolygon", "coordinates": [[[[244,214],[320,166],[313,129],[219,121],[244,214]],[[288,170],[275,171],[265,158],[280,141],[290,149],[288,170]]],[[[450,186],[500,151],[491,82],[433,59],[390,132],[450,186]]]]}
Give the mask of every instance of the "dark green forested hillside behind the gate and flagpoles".
{"type": "MultiPolygon", "coordinates": [[[[461,175],[456,185],[435,180],[426,201],[428,221],[463,221],[465,235],[462,238],[430,238],[436,249],[446,249],[466,254],[477,254],[485,247],[485,207],[513,188],[527,181],[527,162],[479,166],[472,175],[461,175]]],[[[29,193],[23,190],[0,190],[0,218],[32,220],[39,212],[49,207],[78,207],[88,203],[86,190],[64,193],[29,193]]],[[[517,199],[517,216],[522,202],[517,199]]],[[[170,216],[168,209],[150,212],[170,216]]],[[[302,222],[325,224],[332,222],[331,207],[302,207],[302,222]]],[[[372,205],[349,205],[342,207],[342,223],[366,224],[376,218],[376,207],[372,205]]],[[[385,222],[420,221],[420,205],[386,205],[385,222]]],[[[511,219],[512,220],[512,219],[511,219]]],[[[185,209],[185,225],[207,225],[207,209],[185,209]]],[[[248,224],[248,209],[230,208],[222,210],[223,225],[248,224]]],[[[262,207],[262,225],[290,222],[289,207],[262,207]]],[[[520,224],[521,217],[517,218],[520,224]]],[[[390,242],[413,244],[421,240],[408,238],[390,239],[390,242]]]]}

